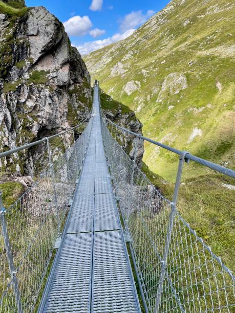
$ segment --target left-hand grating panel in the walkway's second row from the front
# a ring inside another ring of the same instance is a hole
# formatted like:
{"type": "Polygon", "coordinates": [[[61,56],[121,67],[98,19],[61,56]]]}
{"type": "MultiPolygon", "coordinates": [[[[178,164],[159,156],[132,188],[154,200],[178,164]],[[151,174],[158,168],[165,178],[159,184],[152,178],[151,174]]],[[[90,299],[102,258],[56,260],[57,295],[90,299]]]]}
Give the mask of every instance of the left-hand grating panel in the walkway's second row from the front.
{"type": "Polygon", "coordinates": [[[83,233],[93,231],[94,195],[76,195],[69,219],[68,233],[83,233]]]}

